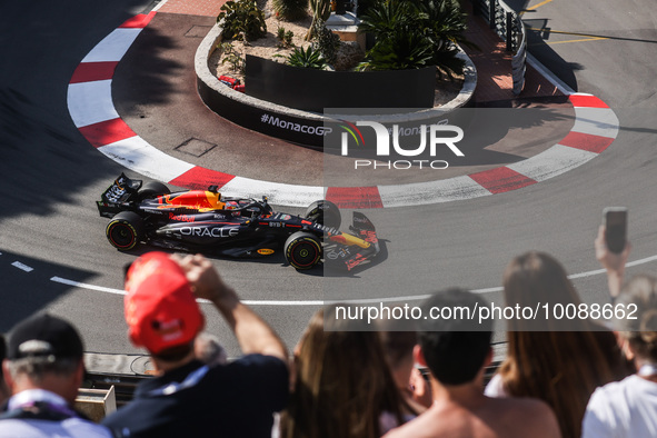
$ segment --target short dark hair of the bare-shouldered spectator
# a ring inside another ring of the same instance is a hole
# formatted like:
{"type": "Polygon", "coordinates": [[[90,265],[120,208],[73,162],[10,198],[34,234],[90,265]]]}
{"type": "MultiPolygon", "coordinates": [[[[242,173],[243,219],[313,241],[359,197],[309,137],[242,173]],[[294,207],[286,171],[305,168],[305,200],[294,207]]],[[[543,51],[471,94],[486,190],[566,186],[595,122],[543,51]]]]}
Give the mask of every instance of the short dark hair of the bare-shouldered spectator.
{"type": "Polygon", "coordinates": [[[434,319],[431,309],[467,308],[474,312],[477,307],[486,306],[482,298],[457,288],[437,292],[422,305],[422,315],[429,318],[420,322],[419,344],[431,375],[441,384],[462,385],[477,377],[490,351],[492,320],[486,319],[480,326],[475,326],[462,315],[434,319]]]}

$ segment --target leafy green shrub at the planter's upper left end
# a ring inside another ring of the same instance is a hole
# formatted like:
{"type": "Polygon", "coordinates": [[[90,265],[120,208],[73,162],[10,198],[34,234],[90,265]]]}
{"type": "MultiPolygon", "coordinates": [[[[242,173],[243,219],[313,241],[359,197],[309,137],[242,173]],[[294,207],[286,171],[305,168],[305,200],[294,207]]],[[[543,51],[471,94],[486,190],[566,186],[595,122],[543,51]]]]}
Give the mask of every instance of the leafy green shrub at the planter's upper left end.
{"type": "Polygon", "coordinates": [[[225,40],[252,41],[267,34],[265,12],[255,0],[227,1],[217,21],[223,24],[221,37],[225,40]]]}

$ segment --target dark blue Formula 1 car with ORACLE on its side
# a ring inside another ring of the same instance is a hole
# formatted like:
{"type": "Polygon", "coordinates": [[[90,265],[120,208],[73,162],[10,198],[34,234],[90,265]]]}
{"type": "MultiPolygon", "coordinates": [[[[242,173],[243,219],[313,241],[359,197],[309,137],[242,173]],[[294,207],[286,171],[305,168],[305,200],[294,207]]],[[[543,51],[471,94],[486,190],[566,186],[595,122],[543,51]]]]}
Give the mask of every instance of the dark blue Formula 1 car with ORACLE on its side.
{"type": "Polygon", "coordinates": [[[275,253],[282,243],[286,260],[297,269],[325,262],[351,270],[379,253],[376,229],[354,212],[351,232],[342,232],[335,203],[312,202],[303,217],[275,212],[262,200],[225,198],[217,186],[171,193],[160,182],[142,183],[123,173],[97,202],[100,216],[111,218],[109,242],[121,251],[139,242],[173,250],[231,257],[275,253]]]}

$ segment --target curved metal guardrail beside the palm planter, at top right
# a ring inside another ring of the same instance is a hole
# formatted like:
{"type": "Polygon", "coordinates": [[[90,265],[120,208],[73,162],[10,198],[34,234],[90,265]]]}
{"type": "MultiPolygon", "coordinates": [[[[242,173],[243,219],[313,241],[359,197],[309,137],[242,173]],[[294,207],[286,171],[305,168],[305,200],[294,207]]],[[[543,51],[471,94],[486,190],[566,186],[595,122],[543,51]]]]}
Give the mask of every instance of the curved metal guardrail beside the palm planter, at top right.
{"type": "Polygon", "coordinates": [[[527,58],[527,32],[520,17],[502,0],[472,0],[475,14],[484,17],[492,29],[507,43],[507,51],[514,52],[511,73],[514,94],[525,87],[525,61],[527,58]]]}

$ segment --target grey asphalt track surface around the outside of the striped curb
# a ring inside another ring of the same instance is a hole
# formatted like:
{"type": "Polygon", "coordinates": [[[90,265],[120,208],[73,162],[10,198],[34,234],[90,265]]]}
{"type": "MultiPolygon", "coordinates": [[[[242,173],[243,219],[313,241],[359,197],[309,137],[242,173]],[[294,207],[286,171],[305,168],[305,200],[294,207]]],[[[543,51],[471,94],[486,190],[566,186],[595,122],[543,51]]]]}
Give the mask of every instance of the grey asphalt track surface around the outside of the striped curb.
{"type": "MultiPolygon", "coordinates": [[[[535,41],[531,48],[549,68],[553,60],[571,88],[595,93],[614,108],[621,129],[605,153],[558,178],[508,193],[368,211],[385,239],[385,251],[377,263],[352,276],[326,278],[320,269],[299,273],[281,266],[280,258],[217,259],[226,280],[290,347],[322,299],[415,297],[458,285],[487,291],[488,299],[501,302],[496,288],[504,267],[529,249],[555,255],[570,273],[584,272],[574,280],[578,290],[588,301],[604,302],[605,278],[596,273],[593,239],[609,205],[630,210],[630,259],[640,263],[629,273],[655,272],[655,261],[644,260],[657,253],[656,195],[649,189],[655,179],[651,73],[657,26],[645,13],[650,10],[647,1],[588,4],[580,2],[574,11],[575,6],[555,0],[531,12],[531,19],[547,20],[554,30],[606,39],[564,39],[556,44],[550,42],[557,33],[551,33],[548,43],[535,41]]],[[[66,9],[47,1],[0,6],[2,331],[48,308],[80,327],[90,351],[139,352],[126,337],[122,297],[112,293],[121,289],[122,267],[139,252],[118,253],[109,247],[102,232],[107,221],[93,206],[123,168],[78,132],[67,110],[67,86],[91,48],[146,7],[139,1],[77,1],[66,9]]],[[[208,325],[211,331],[226,331],[212,313],[208,325]]],[[[222,340],[235,355],[232,338],[222,340]]]]}

